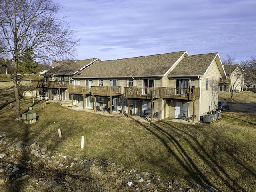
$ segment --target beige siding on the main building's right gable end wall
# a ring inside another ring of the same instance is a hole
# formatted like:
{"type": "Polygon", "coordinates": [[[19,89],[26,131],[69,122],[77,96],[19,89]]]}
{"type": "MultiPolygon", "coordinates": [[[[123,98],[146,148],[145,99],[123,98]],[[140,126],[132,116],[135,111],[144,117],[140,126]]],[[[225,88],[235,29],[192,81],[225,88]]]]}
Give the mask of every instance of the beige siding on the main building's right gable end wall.
{"type": "MultiPolygon", "coordinates": [[[[210,110],[215,110],[214,108],[214,102],[213,102],[213,97],[211,94],[210,90],[210,85],[209,82],[211,80],[219,80],[221,78],[220,71],[218,69],[218,66],[216,64],[216,61],[214,60],[208,70],[206,71],[205,75],[201,77],[201,101],[200,101],[200,106],[201,106],[201,111],[200,115],[204,115],[209,111],[209,101],[211,100],[211,109],[210,110]],[[208,90],[206,90],[206,78],[208,78],[208,90]]],[[[218,96],[217,96],[218,98],[218,96]]],[[[218,101],[216,101],[218,102],[218,101]]]]}

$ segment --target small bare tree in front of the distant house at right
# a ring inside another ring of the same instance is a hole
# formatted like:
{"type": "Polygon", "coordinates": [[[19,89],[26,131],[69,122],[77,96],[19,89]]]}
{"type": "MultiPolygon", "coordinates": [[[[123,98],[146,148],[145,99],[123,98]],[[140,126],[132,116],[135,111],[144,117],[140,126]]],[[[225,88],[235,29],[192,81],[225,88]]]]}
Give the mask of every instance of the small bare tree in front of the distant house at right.
{"type": "Polygon", "coordinates": [[[241,91],[244,82],[244,70],[236,64],[235,56],[227,55],[226,60],[222,61],[227,78],[225,80],[226,89],[229,89],[230,100],[233,101],[235,92],[241,91]]]}

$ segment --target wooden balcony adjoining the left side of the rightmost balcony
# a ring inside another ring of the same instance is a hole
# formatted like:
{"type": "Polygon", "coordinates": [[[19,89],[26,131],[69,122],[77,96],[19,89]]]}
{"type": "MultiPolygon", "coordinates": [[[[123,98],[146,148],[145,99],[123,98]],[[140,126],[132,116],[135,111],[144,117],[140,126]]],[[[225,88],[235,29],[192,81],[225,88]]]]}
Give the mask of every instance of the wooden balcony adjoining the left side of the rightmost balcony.
{"type": "Polygon", "coordinates": [[[161,90],[161,87],[126,87],[125,95],[127,98],[156,99],[161,98],[161,90]]]}

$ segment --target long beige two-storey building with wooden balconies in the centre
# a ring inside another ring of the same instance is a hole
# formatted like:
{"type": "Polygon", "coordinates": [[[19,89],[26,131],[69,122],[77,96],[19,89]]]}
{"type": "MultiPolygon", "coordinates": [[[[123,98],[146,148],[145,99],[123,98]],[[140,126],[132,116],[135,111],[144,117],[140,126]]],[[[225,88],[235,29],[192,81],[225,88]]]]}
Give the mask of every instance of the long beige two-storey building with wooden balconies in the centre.
{"type": "MultiPolygon", "coordinates": [[[[54,78],[56,74],[63,76],[57,67],[54,69],[54,78]]],[[[95,60],[80,72],[76,71],[72,76],[74,81],[69,82],[67,88],[76,106],[94,110],[108,108],[110,113],[120,111],[128,117],[139,115],[151,121],[157,112],[155,118],[159,120],[191,118],[196,122],[202,115],[216,110],[218,84],[222,78],[226,78],[226,74],[218,53],[189,56],[181,51],[95,60]]]]}

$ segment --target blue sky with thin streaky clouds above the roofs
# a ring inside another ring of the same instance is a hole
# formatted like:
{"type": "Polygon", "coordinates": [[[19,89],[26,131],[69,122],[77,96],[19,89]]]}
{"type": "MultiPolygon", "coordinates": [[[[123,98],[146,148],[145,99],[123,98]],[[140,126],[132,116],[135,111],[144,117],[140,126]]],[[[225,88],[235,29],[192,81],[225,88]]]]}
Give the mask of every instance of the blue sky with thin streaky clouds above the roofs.
{"type": "Polygon", "coordinates": [[[256,55],[255,0],[53,0],[76,37],[77,60],[188,51],[256,55]]]}

